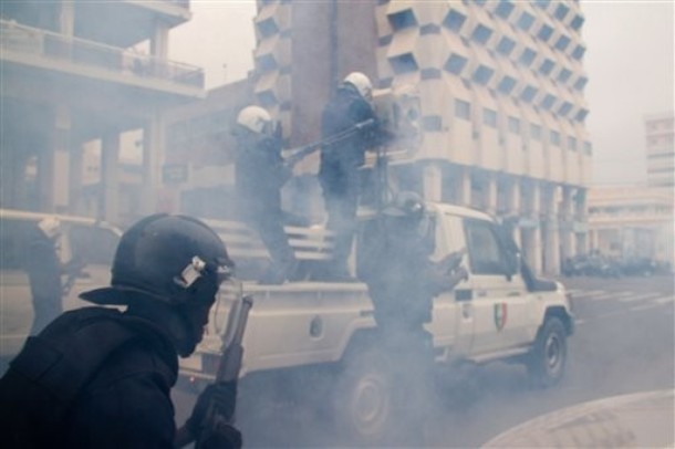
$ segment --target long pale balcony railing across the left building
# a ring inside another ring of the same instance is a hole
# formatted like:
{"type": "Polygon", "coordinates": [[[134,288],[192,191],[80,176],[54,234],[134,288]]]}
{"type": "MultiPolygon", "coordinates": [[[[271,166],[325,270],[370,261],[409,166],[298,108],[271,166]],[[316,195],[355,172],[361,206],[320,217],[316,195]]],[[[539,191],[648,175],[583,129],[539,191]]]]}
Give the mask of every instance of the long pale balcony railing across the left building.
{"type": "Polygon", "coordinates": [[[204,88],[204,71],[194,65],[25,27],[13,21],[0,20],[0,35],[1,59],[8,59],[9,53],[32,55],[54,63],[70,63],[120,75],[204,88]]]}

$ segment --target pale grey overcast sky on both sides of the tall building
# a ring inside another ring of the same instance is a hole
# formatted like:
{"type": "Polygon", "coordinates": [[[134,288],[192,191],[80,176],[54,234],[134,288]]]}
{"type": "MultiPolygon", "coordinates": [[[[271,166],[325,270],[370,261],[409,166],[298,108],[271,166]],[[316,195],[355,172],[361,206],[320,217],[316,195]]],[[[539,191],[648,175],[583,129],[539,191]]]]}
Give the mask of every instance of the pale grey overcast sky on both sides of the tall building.
{"type": "MultiPolygon", "coordinates": [[[[582,1],[593,184],[645,180],[644,116],[673,111],[675,102],[674,3],[582,1]]],[[[172,31],[170,58],[202,66],[208,88],[245,77],[253,65],[256,2],[193,0],[191,10],[193,20],[172,31]]]]}

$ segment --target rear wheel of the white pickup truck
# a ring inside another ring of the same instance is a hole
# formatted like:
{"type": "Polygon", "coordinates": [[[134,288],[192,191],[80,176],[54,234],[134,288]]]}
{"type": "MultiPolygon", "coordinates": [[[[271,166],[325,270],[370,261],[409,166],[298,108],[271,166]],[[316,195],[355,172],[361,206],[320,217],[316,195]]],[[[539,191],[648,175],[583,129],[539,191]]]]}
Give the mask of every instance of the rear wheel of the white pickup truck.
{"type": "Polygon", "coordinates": [[[338,431],[354,443],[383,442],[394,417],[394,384],[387,357],[375,349],[354,354],[338,374],[333,409],[338,431]]]}

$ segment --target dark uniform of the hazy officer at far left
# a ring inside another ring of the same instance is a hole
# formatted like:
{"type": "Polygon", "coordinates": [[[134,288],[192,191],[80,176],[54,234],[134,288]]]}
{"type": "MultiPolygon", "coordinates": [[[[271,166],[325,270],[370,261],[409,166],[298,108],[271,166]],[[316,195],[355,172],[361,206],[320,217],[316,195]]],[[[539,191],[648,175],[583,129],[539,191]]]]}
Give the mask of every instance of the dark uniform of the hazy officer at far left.
{"type": "Polygon", "coordinates": [[[56,243],[39,228],[31,230],[28,241],[25,271],[33,301],[31,335],[37,335],[63,311],[61,274],[63,268],[56,253],[56,243]]]}

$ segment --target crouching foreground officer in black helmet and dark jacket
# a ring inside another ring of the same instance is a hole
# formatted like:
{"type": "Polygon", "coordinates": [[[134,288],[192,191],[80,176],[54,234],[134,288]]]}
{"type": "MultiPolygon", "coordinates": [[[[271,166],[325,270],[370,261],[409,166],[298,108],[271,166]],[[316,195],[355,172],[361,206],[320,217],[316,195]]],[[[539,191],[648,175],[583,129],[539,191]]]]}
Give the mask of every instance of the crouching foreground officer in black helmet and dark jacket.
{"type": "MultiPolygon", "coordinates": [[[[0,379],[4,447],[170,448],[169,391],[178,356],[201,341],[220,283],[233,263],[220,238],[185,216],[132,226],[110,286],[82,299],[101,305],[63,313],[25,346],[0,379]]],[[[199,436],[205,404],[233,410],[233,385],[207,388],[180,431],[199,436]]],[[[241,445],[233,427],[227,447],[241,445]]]]}

